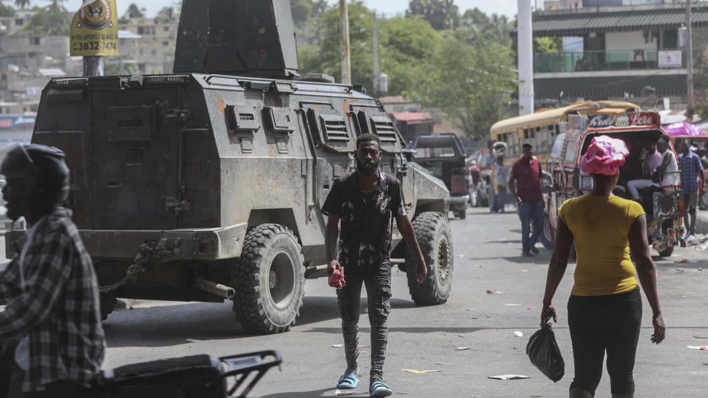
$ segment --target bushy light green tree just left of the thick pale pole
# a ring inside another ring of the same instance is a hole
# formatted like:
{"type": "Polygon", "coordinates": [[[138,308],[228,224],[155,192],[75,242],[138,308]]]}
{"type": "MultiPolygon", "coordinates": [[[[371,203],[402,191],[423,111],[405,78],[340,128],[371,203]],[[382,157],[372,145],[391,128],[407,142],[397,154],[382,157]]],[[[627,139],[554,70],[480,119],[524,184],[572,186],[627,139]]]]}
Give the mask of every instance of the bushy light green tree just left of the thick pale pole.
{"type": "Polygon", "coordinates": [[[516,77],[507,47],[471,33],[457,30],[445,35],[412,96],[426,108],[442,110],[466,135],[482,139],[503,117],[499,104],[510,100],[516,77]]]}

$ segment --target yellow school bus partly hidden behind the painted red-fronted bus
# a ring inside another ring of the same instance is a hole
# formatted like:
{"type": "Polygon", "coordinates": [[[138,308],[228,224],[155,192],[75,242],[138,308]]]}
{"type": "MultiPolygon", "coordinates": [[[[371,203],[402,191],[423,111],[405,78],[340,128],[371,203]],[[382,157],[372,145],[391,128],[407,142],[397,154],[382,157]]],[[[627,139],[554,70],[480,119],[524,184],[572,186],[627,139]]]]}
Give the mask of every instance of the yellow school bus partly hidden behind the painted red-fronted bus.
{"type": "Polygon", "coordinates": [[[639,112],[639,106],[624,101],[579,101],[563,108],[541,109],[531,115],[500,120],[491,126],[489,139],[508,145],[504,164],[513,164],[523,154],[521,147],[526,143],[533,146],[539,161],[546,161],[550,159],[559,125],[568,121],[568,115],[628,112],[639,112]]]}

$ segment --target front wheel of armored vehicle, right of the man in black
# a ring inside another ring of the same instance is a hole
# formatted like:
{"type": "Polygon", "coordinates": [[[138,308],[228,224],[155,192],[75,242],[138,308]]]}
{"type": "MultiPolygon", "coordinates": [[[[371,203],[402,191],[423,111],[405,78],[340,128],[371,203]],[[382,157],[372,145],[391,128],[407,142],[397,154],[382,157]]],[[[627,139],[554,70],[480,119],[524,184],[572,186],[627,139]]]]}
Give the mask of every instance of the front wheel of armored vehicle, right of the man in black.
{"type": "Polygon", "coordinates": [[[413,302],[418,305],[438,305],[447,301],[452,287],[452,232],[450,224],[439,212],[423,212],[413,219],[416,239],[428,266],[428,278],[416,280],[416,258],[406,251],[406,276],[413,302]]]}

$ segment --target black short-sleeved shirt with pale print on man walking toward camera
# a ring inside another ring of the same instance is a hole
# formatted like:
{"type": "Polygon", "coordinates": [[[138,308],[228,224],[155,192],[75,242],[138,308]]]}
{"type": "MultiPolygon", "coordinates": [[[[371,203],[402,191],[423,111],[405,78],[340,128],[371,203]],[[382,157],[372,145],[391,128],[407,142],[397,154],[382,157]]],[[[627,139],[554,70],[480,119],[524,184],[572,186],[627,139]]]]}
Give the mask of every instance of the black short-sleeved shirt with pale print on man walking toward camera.
{"type": "Polygon", "coordinates": [[[345,279],[391,275],[391,227],[394,217],[407,215],[401,183],[379,171],[379,183],[368,203],[359,188],[359,173],[337,178],[322,206],[325,215],[339,216],[337,261],[345,279]]]}

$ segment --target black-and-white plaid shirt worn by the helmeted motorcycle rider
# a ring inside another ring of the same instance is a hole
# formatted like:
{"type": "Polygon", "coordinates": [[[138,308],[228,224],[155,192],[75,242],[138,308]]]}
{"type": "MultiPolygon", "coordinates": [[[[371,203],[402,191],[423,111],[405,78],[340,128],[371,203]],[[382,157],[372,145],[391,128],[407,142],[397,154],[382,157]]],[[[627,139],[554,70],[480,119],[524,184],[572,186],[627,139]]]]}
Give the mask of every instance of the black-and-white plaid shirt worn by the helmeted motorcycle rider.
{"type": "Polygon", "coordinates": [[[7,346],[28,336],[23,392],[67,379],[89,387],[105,348],[91,257],[69,210],[55,207],[35,227],[23,266],[15,258],[0,275],[0,304],[7,305],[0,312],[0,340],[7,346]]]}

